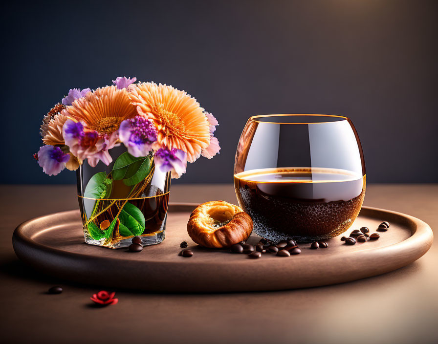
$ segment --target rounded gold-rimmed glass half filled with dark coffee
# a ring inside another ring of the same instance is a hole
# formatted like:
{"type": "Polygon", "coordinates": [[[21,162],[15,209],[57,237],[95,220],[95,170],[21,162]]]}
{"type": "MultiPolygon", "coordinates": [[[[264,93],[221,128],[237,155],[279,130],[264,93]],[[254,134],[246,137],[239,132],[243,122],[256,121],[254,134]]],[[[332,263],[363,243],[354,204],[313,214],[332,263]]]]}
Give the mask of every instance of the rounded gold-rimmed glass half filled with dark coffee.
{"type": "Polygon", "coordinates": [[[243,129],[234,187],[261,237],[309,242],[345,232],[365,184],[362,147],[347,117],[259,115],[243,129]]]}

